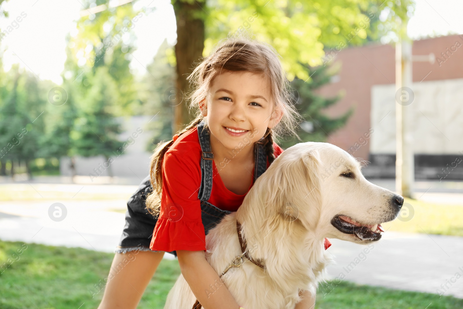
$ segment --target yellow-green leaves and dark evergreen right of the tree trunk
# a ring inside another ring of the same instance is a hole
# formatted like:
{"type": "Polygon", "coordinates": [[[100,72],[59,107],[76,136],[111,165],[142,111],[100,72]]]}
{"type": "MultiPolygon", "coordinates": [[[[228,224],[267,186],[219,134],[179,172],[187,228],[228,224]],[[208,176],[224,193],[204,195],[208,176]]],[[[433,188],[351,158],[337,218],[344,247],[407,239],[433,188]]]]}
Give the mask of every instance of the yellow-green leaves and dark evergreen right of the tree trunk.
{"type": "Polygon", "coordinates": [[[300,140],[286,137],[284,147],[300,141],[325,141],[345,125],[353,110],[330,118],[322,111],[339,97],[315,94],[329,81],[325,64],[347,46],[398,31],[397,17],[406,18],[407,12],[413,12],[411,0],[399,4],[393,0],[207,0],[206,4],[205,56],[227,35],[256,38],[280,54],[288,79],[299,93],[296,107],[305,118],[297,130],[300,140]]]}

